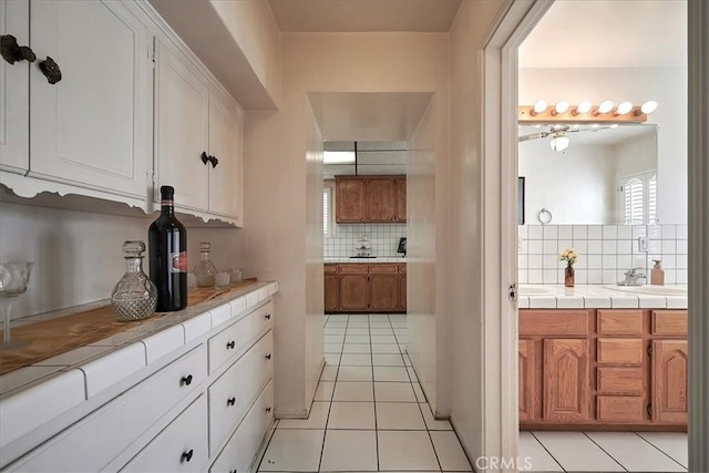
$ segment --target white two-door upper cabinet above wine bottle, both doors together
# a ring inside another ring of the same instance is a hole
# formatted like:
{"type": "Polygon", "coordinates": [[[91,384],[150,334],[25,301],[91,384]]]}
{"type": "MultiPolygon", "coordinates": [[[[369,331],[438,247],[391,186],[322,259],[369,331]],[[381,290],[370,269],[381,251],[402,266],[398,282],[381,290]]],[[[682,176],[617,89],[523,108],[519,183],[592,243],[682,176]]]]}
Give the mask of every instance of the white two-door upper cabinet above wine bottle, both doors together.
{"type": "Polygon", "coordinates": [[[177,48],[156,39],[155,52],[155,191],[171,185],[177,209],[240,226],[242,111],[177,48]]]}

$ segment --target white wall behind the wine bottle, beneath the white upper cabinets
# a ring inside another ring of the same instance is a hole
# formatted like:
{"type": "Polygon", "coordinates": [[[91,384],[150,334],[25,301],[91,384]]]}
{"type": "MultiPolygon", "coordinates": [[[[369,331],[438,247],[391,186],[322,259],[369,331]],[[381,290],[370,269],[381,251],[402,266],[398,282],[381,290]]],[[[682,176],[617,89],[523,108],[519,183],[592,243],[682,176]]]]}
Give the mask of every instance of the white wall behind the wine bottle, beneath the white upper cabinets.
{"type": "MultiPolygon", "coordinates": [[[[147,227],[156,216],[123,217],[0,203],[0,258],[35,261],[30,287],[18,298],[13,318],[110,298],[125,273],[123,241],[140,239],[147,245],[147,227]]],[[[240,267],[238,235],[234,228],[188,228],[189,268],[199,258],[203,240],[212,243],[217,267],[240,267]]]]}

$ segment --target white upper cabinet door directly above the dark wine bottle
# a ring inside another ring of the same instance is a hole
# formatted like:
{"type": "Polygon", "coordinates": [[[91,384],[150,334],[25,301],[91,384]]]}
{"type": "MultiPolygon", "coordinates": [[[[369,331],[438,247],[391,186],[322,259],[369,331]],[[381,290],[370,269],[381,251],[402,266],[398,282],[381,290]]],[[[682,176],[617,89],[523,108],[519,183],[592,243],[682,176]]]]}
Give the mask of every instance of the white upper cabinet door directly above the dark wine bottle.
{"type": "MultiPolygon", "coordinates": [[[[198,71],[156,40],[155,155],[158,186],[175,187],[175,206],[206,212],[209,91],[198,71]]],[[[185,60],[186,61],[186,60],[185,60]]],[[[156,195],[160,200],[160,194],[156,195]]]]}

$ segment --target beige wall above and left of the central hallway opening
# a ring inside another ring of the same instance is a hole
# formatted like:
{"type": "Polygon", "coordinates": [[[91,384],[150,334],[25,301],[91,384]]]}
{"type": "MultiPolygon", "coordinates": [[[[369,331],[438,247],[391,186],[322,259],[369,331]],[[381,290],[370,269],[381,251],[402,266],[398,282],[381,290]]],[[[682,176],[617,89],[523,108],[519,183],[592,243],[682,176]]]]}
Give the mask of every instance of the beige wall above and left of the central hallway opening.
{"type": "Polygon", "coordinates": [[[305,282],[309,205],[305,158],[309,126],[307,95],[318,92],[442,94],[435,132],[436,143],[445,143],[448,42],[445,34],[435,33],[284,33],[280,48],[280,111],[249,113],[245,121],[245,222],[248,226],[243,235],[249,270],[280,282],[274,336],[276,411],[282,417],[304,415],[309,408],[305,398],[309,388],[305,389],[302,367],[305,353],[310,351],[306,345],[315,338],[312,333],[306,336],[304,329],[306,313],[311,313],[305,282]]]}

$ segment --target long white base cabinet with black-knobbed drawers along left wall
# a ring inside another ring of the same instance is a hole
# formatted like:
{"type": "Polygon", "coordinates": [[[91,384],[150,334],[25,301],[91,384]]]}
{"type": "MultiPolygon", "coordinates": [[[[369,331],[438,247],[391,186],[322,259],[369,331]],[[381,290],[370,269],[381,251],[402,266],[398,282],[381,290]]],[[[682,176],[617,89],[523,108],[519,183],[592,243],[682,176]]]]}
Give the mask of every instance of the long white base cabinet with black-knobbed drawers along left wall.
{"type": "MultiPolygon", "coordinates": [[[[246,471],[274,421],[270,295],[275,290],[275,285],[255,289],[234,304],[227,300],[132,342],[130,347],[140,348],[145,356],[160,343],[161,333],[189,333],[189,341],[183,340],[187,345],[172,353],[155,361],[148,357],[147,373],[130,388],[95,393],[107,399],[89,413],[84,412],[88,405],[68,408],[63,415],[79,409],[78,420],[66,422],[43,443],[28,444],[13,463],[7,464],[12,457],[8,459],[4,446],[0,449],[0,467],[23,472],[246,471]],[[202,328],[195,336],[197,327],[202,328]],[[161,364],[151,370],[151,363],[161,364]]],[[[167,339],[172,337],[165,336],[167,339]]],[[[86,366],[97,361],[101,358],[86,366]]],[[[89,384],[92,372],[85,377],[89,384]]],[[[130,377],[140,378],[140,372],[130,377]]],[[[8,409],[8,404],[0,408],[8,409]]]]}

